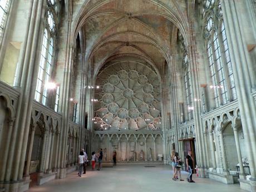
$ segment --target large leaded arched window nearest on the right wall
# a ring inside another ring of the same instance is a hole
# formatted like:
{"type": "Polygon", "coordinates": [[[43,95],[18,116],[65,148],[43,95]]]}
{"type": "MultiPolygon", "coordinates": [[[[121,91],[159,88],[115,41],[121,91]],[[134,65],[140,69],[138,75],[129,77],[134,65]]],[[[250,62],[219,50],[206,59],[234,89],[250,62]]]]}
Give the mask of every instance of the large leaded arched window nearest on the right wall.
{"type": "Polygon", "coordinates": [[[213,90],[215,107],[219,107],[237,99],[220,1],[204,0],[202,15],[210,88],[213,90]]]}

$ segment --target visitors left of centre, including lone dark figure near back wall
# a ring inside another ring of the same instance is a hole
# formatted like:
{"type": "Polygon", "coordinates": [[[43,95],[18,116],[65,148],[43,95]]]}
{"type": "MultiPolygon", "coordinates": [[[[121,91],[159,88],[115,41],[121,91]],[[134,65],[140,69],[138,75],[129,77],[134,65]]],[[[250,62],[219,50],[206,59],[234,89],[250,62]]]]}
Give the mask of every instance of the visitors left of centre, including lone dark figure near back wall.
{"type": "MultiPolygon", "coordinates": [[[[113,152],[112,157],[113,157],[113,165],[116,165],[116,151],[113,152]]],[[[97,152],[97,154],[95,153],[95,151],[92,152],[91,166],[92,166],[93,171],[95,170],[96,163],[99,164],[97,170],[100,171],[102,169],[102,159],[103,159],[102,149],[100,149],[97,152]]],[[[88,156],[87,156],[85,150],[82,149],[80,151],[80,155],[78,156],[78,176],[81,177],[82,171],[83,171],[83,174],[86,174],[86,165],[87,164],[88,164],[88,156]]]]}

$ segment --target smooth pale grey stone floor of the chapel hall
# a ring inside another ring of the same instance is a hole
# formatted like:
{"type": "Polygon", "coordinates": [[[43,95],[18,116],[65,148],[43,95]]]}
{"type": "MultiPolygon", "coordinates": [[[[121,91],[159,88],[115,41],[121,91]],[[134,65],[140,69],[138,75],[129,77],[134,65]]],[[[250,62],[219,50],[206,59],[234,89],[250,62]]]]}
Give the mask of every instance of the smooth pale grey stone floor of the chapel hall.
{"type": "MultiPolygon", "coordinates": [[[[186,179],[185,172],[182,176],[186,179]]],[[[173,181],[170,180],[171,170],[168,165],[156,165],[155,168],[145,168],[144,165],[117,165],[114,168],[103,168],[101,171],[88,170],[81,178],[77,176],[77,172],[73,172],[65,179],[35,186],[29,192],[244,192],[239,188],[239,184],[225,185],[193,176],[196,183],[173,181]]]]}

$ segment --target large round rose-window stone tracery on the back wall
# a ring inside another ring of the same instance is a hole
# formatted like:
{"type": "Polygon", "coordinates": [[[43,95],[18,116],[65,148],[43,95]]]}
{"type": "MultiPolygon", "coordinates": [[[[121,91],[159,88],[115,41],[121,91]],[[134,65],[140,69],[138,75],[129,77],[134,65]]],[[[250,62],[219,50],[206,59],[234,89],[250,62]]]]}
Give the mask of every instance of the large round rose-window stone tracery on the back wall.
{"type": "Polygon", "coordinates": [[[95,130],[161,129],[160,80],[149,66],[118,62],[103,68],[95,91],[95,130]]]}

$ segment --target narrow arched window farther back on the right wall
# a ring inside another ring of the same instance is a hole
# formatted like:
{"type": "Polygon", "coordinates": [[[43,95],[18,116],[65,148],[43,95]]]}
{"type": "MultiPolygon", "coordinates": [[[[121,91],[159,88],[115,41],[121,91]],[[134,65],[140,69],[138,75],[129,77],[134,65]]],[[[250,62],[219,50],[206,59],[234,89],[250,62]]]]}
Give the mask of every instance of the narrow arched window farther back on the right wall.
{"type": "Polygon", "coordinates": [[[184,38],[181,33],[178,33],[180,48],[183,52],[182,68],[183,68],[183,78],[184,78],[184,87],[186,95],[186,106],[188,111],[188,120],[193,119],[193,106],[192,106],[192,90],[191,90],[191,73],[189,68],[188,61],[188,52],[186,50],[186,45],[184,38]]]}

